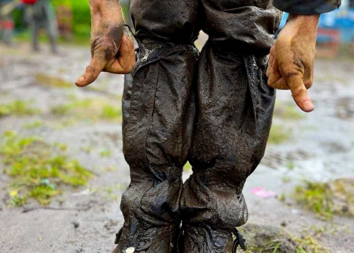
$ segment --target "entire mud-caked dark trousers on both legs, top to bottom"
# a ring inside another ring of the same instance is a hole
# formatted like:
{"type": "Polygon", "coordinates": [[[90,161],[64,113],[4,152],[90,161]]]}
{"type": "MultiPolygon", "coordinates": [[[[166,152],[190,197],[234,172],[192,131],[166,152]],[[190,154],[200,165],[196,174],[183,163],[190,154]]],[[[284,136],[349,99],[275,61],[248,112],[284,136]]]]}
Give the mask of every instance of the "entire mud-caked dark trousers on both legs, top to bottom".
{"type": "Polygon", "coordinates": [[[133,0],[131,13],[140,44],[123,95],[131,183],[115,252],[171,252],[181,220],[185,252],[224,252],[247,220],[242,188],[269,134],[265,55],[280,12],[269,1],[133,0]],[[198,60],[201,28],[209,41],[198,60]]]}

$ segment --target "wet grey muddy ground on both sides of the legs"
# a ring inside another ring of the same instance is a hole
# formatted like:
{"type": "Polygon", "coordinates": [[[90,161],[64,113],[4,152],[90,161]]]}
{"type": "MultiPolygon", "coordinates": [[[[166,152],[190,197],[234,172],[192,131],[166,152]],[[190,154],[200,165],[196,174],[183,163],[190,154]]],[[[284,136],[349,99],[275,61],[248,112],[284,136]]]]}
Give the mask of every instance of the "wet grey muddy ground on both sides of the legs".
{"type": "MultiPolygon", "coordinates": [[[[122,155],[121,126],[116,120],[75,113],[57,115],[54,107],[90,99],[120,106],[123,77],[101,74],[91,87],[71,83],[90,60],[87,48],[62,47],[59,55],[33,54],[26,45],[0,46],[0,104],[27,101],[40,112],[0,117],[0,134],[40,136],[63,143],[66,152],[94,173],[86,187],[67,188],[47,207],[29,201],[8,207],[11,179],[0,165],[1,252],[110,252],[122,225],[120,195],[129,184],[122,155]]],[[[354,219],[335,216],[323,221],[292,198],[303,180],[327,182],[354,178],[354,64],[317,60],[310,95],[315,112],[302,114],[288,92],[278,92],[272,141],[262,164],[250,176],[244,195],[249,223],[283,227],[297,237],[311,236],[330,252],[352,252],[354,219]],[[259,197],[254,188],[276,196],[259,197]]],[[[59,106],[59,107],[58,107],[59,106]]],[[[89,110],[94,110],[91,106],[89,110]]],[[[187,168],[184,178],[188,177],[187,168]]]]}

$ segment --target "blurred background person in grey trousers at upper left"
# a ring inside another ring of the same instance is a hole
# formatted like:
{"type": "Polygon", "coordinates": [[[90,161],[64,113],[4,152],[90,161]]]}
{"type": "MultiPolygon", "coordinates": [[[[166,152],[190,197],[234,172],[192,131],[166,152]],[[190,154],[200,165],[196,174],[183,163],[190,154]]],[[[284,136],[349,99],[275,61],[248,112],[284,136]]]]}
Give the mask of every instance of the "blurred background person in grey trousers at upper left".
{"type": "Polygon", "coordinates": [[[32,49],[39,51],[39,31],[45,29],[53,53],[57,53],[57,25],[54,8],[50,0],[22,0],[26,6],[26,21],[32,34],[32,49]]]}

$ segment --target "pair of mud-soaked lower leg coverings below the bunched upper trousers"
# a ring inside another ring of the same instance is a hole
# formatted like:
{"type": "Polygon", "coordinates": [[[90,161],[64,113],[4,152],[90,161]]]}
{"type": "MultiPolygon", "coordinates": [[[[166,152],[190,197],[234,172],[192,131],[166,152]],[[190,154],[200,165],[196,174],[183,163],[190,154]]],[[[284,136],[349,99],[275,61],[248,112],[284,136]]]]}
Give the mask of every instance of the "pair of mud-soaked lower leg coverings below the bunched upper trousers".
{"type": "Polygon", "coordinates": [[[263,156],[275,92],[266,56],[225,52],[208,42],[140,47],[125,77],[123,152],[131,183],[117,251],[231,252],[232,231],[247,221],[246,178],[263,156]],[[193,175],[183,184],[182,168],[193,175]]]}

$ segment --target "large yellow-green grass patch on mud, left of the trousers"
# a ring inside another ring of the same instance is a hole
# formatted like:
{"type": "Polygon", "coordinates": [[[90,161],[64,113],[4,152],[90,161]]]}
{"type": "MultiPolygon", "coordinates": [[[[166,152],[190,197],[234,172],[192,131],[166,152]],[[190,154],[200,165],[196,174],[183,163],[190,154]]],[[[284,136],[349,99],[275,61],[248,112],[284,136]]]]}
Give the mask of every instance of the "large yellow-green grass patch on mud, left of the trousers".
{"type": "Polygon", "coordinates": [[[4,172],[11,177],[11,205],[23,205],[33,198],[47,205],[65,186],[84,186],[92,173],[77,160],[68,159],[62,145],[51,145],[38,137],[19,137],[6,132],[0,146],[4,172]]]}

